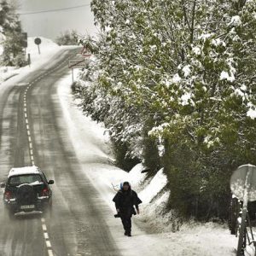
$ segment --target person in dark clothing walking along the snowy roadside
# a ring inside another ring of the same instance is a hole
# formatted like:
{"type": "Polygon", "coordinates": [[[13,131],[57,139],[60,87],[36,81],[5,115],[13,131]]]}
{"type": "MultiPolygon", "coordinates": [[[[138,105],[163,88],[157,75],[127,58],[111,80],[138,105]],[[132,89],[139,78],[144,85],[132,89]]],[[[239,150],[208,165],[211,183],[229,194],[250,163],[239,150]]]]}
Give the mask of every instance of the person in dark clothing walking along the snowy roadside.
{"type": "Polygon", "coordinates": [[[125,230],[125,236],[131,236],[131,217],[132,215],[139,214],[139,204],[141,201],[137,193],[131,189],[131,184],[124,182],[121,184],[120,190],[113,197],[116,211],[118,214],[115,217],[119,217],[122,220],[122,224],[125,230]],[[136,207],[136,211],[134,209],[136,207]]]}

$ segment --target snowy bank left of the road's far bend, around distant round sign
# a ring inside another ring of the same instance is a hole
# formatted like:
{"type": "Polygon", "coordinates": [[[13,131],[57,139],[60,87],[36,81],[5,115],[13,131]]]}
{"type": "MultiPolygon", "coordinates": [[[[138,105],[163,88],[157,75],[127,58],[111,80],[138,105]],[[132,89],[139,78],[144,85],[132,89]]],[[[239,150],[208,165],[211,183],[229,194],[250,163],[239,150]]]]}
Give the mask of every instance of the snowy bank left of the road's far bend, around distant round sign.
{"type": "Polygon", "coordinates": [[[0,84],[20,73],[31,72],[33,69],[44,64],[44,62],[49,61],[49,59],[59,50],[67,48],[67,46],[59,46],[55,44],[48,38],[40,38],[42,40],[42,43],[40,44],[40,55],[38,53],[38,45],[34,43],[35,38],[27,38],[26,55],[30,54],[31,56],[31,67],[0,67],[0,84]]]}

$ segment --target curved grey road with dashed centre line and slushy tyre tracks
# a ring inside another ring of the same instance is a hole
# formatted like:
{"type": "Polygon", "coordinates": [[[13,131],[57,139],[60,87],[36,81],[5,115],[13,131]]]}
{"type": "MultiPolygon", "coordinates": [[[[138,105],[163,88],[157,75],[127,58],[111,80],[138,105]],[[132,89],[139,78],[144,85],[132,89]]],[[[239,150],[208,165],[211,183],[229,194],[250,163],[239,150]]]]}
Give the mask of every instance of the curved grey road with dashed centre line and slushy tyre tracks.
{"type": "Polygon", "coordinates": [[[106,206],[82,175],[65,124],[61,124],[55,82],[67,74],[66,60],[75,53],[75,49],[63,49],[61,57],[26,79],[0,85],[1,182],[12,166],[33,162],[55,180],[51,214],[10,220],[1,202],[1,256],[120,255],[104,220],[106,206]]]}

